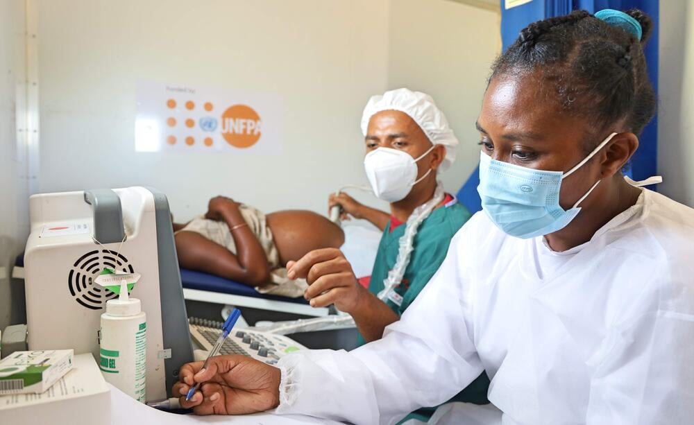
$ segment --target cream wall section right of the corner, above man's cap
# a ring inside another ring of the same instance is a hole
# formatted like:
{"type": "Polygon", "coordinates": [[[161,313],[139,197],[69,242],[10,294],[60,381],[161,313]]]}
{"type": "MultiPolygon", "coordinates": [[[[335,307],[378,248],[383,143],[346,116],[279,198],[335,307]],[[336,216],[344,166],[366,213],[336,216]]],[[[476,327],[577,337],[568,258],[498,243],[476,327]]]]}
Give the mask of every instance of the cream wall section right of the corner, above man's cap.
{"type": "Polygon", "coordinates": [[[430,94],[460,140],[455,165],[441,175],[455,193],[480,162],[475,121],[501,51],[500,15],[449,0],[391,0],[389,40],[389,88],[430,94]]]}

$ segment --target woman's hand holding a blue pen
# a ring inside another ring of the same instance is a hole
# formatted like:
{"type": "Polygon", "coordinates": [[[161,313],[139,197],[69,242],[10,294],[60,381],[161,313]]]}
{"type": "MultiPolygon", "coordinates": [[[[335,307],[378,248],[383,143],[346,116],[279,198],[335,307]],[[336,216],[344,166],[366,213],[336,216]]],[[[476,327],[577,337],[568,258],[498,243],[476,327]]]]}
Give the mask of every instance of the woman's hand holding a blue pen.
{"type": "Polygon", "coordinates": [[[214,356],[206,370],[203,362],[186,363],[171,394],[180,406],[196,415],[246,415],[280,404],[280,370],[246,356],[214,356]],[[185,394],[200,382],[189,401],[185,394]]]}

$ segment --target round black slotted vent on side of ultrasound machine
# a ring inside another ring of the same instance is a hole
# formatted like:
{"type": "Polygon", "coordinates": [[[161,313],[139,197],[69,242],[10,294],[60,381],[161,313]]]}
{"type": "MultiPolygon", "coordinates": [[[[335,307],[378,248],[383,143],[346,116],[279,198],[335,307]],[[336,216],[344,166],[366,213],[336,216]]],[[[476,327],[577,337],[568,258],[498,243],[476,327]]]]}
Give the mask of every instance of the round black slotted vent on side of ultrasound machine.
{"type": "Polygon", "coordinates": [[[101,255],[99,250],[87,252],[75,261],[67,277],[67,287],[77,304],[90,310],[101,310],[106,306],[106,301],[117,297],[115,293],[92,281],[104,267],[135,272],[128,259],[116,251],[101,250],[101,255]]]}

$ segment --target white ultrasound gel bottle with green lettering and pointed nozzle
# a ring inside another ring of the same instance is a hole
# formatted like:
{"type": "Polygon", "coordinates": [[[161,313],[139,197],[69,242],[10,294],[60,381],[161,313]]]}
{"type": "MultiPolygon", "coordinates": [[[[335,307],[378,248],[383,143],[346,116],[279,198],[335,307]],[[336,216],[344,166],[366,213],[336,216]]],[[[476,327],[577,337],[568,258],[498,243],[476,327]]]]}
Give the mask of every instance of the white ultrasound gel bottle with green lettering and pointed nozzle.
{"type": "Polygon", "coordinates": [[[119,292],[117,299],[106,302],[101,315],[99,369],[108,383],[144,403],[146,315],[139,300],[128,297],[126,279],[119,292]]]}

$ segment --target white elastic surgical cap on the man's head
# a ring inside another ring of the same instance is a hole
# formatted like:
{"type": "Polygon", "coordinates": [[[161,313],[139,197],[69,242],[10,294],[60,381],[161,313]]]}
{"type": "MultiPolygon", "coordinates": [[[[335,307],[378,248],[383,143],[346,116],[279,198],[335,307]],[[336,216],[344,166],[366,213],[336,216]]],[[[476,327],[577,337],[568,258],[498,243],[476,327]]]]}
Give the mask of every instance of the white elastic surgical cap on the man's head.
{"type": "Polygon", "coordinates": [[[414,119],[424,134],[434,145],[446,147],[446,157],[441,163],[441,171],[446,171],[455,161],[458,139],[446,121],[443,112],[434,105],[434,99],[422,92],[412,92],[410,89],[396,89],[383,95],[371,96],[362,114],[362,133],[366,136],[371,116],[381,111],[396,110],[404,112],[414,119]]]}

